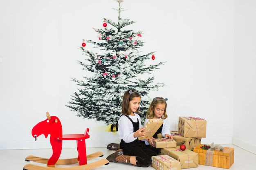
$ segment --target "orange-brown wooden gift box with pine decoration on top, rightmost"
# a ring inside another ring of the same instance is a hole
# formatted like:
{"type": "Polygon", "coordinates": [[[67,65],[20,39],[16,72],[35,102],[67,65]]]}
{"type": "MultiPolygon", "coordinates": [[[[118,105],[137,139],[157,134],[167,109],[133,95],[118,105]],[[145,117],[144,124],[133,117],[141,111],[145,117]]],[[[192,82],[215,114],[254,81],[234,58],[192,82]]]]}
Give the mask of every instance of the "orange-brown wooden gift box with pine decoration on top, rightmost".
{"type": "Polygon", "coordinates": [[[234,148],[223,147],[223,150],[202,149],[199,145],[194,152],[199,155],[199,164],[229,169],[234,163],[234,148]]]}

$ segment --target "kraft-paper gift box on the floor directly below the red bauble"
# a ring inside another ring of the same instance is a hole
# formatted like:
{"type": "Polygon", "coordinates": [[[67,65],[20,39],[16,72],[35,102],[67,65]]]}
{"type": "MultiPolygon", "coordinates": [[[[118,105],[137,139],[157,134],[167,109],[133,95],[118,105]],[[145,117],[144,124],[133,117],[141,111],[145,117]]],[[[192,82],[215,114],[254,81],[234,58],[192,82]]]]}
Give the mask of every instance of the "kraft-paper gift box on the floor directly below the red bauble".
{"type": "Polygon", "coordinates": [[[169,155],[177,161],[180,161],[181,169],[198,167],[198,153],[186,149],[180,150],[180,146],[175,148],[162,148],[161,155],[169,155]]]}

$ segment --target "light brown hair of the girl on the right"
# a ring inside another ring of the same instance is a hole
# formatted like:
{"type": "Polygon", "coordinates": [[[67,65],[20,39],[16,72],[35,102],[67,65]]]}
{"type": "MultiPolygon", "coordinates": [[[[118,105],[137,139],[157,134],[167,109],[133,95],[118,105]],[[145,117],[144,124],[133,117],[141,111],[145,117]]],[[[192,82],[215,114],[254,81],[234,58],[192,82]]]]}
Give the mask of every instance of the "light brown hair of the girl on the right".
{"type": "Polygon", "coordinates": [[[165,105],[164,107],[164,114],[162,116],[162,119],[166,119],[168,116],[167,116],[167,113],[166,113],[166,107],[167,107],[167,103],[166,103],[166,100],[168,99],[164,99],[163,97],[155,97],[152,102],[150,103],[150,106],[148,107],[148,111],[146,113],[146,118],[147,119],[153,119],[154,118],[154,108],[157,104],[163,104],[165,105]]]}

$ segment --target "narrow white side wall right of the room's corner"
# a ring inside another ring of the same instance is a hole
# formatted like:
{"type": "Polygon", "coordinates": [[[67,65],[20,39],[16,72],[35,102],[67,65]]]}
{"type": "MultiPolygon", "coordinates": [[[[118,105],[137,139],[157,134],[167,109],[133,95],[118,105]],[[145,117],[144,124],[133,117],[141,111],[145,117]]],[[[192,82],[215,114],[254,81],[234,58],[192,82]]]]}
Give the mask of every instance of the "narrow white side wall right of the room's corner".
{"type": "Polygon", "coordinates": [[[256,1],[235,1],[233,143],[256,153],[256,1]]]}

